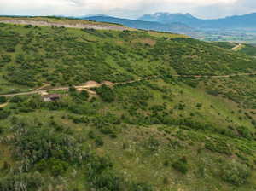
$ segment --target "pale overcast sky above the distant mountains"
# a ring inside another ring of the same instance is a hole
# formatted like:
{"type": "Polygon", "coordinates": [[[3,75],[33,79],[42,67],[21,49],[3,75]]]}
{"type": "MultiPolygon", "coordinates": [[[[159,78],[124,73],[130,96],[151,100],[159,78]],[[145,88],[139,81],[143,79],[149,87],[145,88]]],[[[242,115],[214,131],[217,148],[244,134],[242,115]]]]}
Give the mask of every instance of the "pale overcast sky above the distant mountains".
{"type": "Polygon", "coordinates": [[[134,19],[155,12],[219,18],[256,12],[256,0],[0,0],[0,14],[108,14],[134,19]]]}

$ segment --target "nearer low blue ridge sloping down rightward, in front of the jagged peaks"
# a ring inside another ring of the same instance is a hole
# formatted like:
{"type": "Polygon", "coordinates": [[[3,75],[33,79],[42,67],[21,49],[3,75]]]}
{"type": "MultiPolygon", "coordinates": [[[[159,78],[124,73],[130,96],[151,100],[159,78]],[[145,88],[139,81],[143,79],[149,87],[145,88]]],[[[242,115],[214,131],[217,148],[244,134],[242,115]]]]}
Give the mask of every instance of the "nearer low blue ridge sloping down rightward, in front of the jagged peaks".
{"type": "Polygon", "coordinates": [[[161,22],[155,22],[155,21],[128,20],[128,19],[120,19],[120,18],[106,16],[106,15],[85,16],[85,17],[79,17],[79,19],[94,20],[98,22],[118,23],[124,26],[129,26],[132,28],[143,29],[143,30],[182,33],[182,34],[187,34],[193,37],[198,36],[197,30],[195,30],[193,27],[187,26],[179,22],[161,23],[161,22]]]}

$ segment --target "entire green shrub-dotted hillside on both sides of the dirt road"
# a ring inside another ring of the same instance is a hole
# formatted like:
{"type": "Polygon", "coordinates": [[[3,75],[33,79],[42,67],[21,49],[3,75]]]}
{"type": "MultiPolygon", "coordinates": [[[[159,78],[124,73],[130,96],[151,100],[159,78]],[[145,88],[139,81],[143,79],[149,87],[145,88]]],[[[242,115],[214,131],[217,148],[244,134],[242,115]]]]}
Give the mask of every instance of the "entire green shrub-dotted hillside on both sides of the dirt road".
{"type": "Polygon", "coordinates": [[[210,77],[255,73],[253,57],[168,33],[0,26],[1,94],[71,86],[0,96],[0,190],[256,189],[256,77],[210,77]]]}

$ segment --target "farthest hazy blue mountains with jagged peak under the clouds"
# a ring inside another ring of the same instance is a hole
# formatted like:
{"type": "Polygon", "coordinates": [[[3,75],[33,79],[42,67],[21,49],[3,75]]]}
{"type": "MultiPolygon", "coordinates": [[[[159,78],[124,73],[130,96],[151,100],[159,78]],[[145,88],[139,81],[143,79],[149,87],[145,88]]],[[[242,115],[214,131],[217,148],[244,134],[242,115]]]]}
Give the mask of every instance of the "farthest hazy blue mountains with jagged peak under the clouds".
{"type": "Polygon", "coordinates": [[[256,29],[256,13],[230,16],[215,20],[198,19],[191,14],[155,13],[145,14],[137,20],[160,23],[180,22],[198,29],[256,29]]]}

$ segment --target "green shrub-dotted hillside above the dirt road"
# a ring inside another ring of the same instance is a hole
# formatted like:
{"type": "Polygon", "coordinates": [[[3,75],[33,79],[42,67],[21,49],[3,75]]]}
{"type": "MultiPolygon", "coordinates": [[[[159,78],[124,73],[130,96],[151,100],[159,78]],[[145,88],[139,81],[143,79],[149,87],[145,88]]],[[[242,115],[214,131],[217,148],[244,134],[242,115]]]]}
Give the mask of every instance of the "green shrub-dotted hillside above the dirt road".
{"type": "Polygon", "coordinates": [[[121,82],[175,73],[217,75],[256,67],[245,55],[177,35],[168,38],[166,33],[1,26],[1,93],[44,83],[121,82]]]}

